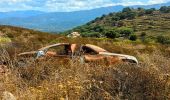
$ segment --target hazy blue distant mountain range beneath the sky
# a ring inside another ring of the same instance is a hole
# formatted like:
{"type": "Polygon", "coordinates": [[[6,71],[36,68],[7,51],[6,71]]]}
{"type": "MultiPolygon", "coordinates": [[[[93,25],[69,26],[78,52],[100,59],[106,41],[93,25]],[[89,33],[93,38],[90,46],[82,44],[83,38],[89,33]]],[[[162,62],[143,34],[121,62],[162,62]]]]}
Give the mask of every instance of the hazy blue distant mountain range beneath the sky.
{"type": "MultiPolygon", "coordinates": [[[[170,3],[148,6],[131,6],[134,8],[160,8],[169,6],[170,3]]],[[[41,12],[41,11],[16,11],[0,13],[0,24],[25,27],[45,32],[61,32],[83,25],[96,17],[111,12],[121,11],[124,6],[102,7],[92,10],[75,12],[41,12]]]]}

